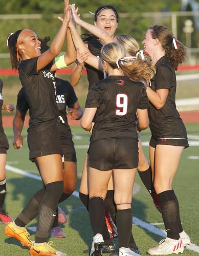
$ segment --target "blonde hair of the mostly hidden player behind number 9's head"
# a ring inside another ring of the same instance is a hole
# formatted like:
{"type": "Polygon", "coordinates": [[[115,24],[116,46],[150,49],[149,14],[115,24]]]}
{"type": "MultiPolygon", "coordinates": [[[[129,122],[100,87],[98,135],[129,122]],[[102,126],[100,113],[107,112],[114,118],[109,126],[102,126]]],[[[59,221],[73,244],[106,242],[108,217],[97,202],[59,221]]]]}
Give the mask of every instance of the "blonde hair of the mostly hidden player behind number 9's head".
{"type": "Polygon", "coordinates": [[[140,47],[135,38],[130,35],[120,34],[115,36],[116,40],[121,44],[126,50],[126,54],[129,56],[136,56],[140,47]]]}

